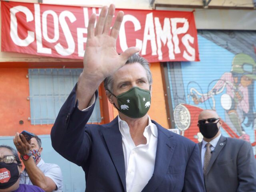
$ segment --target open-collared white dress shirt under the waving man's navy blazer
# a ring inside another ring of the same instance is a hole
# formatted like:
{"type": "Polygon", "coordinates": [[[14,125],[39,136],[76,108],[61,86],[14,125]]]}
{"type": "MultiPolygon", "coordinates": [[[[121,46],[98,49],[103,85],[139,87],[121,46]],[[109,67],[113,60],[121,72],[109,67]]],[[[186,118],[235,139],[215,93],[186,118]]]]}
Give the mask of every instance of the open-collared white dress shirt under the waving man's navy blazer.
{"type": "Polygon", "coordinates": [[[146,126],[143,133],[147,143],[135,146],[128,124],[121,120],[119,116],[118,124],[122,134],[126,190],[127,192],[141,192],[154,172],[158,136],[157,127],[148,116],[148,126],[146,126]]]}

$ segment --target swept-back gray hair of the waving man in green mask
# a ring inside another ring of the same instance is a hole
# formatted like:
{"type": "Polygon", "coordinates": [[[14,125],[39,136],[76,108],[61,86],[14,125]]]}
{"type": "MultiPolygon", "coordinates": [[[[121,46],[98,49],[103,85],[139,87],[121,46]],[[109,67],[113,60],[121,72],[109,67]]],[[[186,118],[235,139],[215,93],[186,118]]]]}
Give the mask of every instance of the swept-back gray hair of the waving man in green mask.
{"type": "MultiPolygon", "coordinates": [[[[125,64],[132,64],[132,63],[139,63],[144,67],[144,69],[146,70],[148,83],[151,85],[153,80],[152,80],[152,74],[150,71],[150,64],[148,63],[148,61],[145,58],[141,57],[138,53],[134,53],[132,56],[128,58],[125,64]]],[[[109,76],[104,79],[104,89],[109,90],[110,92],[113,92],[112,76],[109,76]]]]}

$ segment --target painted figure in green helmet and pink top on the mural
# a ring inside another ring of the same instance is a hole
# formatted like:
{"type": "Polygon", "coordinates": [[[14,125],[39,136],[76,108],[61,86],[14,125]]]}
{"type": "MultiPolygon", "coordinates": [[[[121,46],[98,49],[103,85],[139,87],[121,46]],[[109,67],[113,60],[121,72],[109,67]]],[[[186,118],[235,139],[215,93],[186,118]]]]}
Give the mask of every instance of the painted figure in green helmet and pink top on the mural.
{"type": "MultiPolygon", "coordinates": [[[[224,73],[216,84],[206,94],[201,94],[196,89],[190,89],[194,104],[205,102],[209,98],[226,90],[220,98],[221,106],[225,110],[225,122],[240,138],[250,141],[249,135],[244,132],[244,126],[254,126],[254,80],[256,80],[256,62],[247,54],[240,53],[234,56],[231,72],[224,73]],[[200,96],[200,98],[198,98],[200,96]]],[[[214,82],[214,81],[213,81],[214,82]]]]}

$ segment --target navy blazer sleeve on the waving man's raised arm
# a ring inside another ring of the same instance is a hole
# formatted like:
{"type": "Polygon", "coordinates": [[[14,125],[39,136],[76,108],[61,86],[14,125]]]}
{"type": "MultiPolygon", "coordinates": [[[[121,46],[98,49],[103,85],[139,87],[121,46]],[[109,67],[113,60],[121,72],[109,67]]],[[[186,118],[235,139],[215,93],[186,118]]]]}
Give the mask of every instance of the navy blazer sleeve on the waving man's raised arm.
{"type": "MultiPolygon", "coordinates": [[[[96,97],[98,92],[95,93],[96,97]]],[[[51,130],[52,147],[67,160],[81,166],[91,148],[89,128],[85,128],[95,103],[86,111],[78,109],[76,86],[63,104],[51,130]]]]}

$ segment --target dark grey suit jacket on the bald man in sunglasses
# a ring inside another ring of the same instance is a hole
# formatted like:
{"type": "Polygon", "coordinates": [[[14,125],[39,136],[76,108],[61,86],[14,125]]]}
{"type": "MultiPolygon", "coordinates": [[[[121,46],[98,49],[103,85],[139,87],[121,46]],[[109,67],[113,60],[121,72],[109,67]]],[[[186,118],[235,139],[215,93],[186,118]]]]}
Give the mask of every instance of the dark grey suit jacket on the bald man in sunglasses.
{"type": "MultiPolygon", "coordinates": [[[[200,152],[202,142],[199,144],[200,152]]],[[[205,175],[207,192],[256,192],[256,160],[250,143],[221,136],[205,175]]]]}

